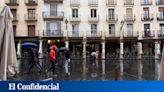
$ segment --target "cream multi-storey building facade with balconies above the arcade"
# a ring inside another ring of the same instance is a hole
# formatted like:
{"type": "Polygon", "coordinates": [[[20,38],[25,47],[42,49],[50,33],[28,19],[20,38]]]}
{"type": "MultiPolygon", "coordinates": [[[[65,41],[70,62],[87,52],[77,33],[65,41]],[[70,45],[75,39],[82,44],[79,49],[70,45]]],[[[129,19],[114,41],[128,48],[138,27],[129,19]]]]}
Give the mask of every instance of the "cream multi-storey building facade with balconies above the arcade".
{"type": "Polygon", "coordinates": [[[138,59],[139,75],[142,58],[152,56],[158,72],[164,45],[164,0],[5,1],[14,15],[18,54],[20,43],[28,38],[38,42],[40,54],[53,42],[84,59],[93,51],[99,51],[101,59],[118,55],[121,74],[126,55],[138,59]]]}

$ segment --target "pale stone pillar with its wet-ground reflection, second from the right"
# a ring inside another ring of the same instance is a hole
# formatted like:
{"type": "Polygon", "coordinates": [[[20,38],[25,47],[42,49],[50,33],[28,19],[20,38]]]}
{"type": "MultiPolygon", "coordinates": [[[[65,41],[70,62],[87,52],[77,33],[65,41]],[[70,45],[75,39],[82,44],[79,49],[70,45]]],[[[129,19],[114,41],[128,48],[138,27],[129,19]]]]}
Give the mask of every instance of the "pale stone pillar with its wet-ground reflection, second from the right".
{"type": "Polygon", "coordinates": [[[141,41],[138,42],[138,79],[142,80],[142,43],[141,41]]]}

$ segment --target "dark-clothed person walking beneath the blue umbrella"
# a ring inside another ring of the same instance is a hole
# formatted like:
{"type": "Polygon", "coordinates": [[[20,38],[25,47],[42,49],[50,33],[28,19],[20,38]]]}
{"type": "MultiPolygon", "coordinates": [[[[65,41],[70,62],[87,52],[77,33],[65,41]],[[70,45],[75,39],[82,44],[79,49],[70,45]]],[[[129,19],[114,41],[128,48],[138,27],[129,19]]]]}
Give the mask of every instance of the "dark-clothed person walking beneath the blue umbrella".
{"type": "Polygon", "coordinates": [[[36,68],[39,70],[40,74],[42,73],[42,68],[41,68],[41,65],[39,63],[39,59],[38,59],[38,50],[36,48],[29,48],[30,51],[32,52],[31,53],[31,60],[32,62],[30,62],[30,68],[29,68],[29,71],[28,73],[31,71],[31,69],[36,66],[36,68]]]}

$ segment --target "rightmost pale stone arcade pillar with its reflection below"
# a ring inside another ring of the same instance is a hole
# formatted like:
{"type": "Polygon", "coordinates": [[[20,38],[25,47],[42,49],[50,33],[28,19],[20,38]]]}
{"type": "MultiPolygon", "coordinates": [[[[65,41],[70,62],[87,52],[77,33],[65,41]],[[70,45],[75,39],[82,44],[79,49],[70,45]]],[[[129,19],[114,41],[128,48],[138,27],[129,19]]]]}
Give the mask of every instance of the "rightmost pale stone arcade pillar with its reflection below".
{"type": "Polygon", "coordinates": [[[160,44],[158,41],[155,41],[155,79],[159,79],[159,72],[160,72],[159,55],[160,55],[160,44]]]}

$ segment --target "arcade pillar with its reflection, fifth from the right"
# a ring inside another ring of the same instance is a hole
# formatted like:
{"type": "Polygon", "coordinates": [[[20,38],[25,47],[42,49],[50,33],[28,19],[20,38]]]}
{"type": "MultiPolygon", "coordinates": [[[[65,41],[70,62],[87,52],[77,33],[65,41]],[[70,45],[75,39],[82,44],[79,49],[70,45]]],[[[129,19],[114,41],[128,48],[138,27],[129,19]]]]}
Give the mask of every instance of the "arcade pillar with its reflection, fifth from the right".
{"type": "Polygon", "coordinates": [[[83,42],[83,80],[86,79],[86,41],[83,42]]]}

